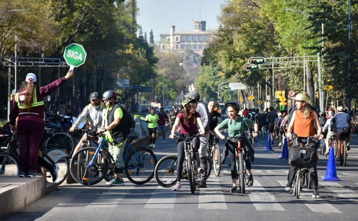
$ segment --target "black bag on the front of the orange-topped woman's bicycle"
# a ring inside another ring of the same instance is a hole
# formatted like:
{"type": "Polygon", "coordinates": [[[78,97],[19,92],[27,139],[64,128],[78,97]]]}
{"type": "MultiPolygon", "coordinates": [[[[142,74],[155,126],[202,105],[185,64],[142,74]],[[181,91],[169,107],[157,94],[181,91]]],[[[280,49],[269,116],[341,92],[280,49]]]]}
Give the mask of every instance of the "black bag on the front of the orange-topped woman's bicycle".
{"type": "Polygon", "coordinates": [[[312,168],[315,165],[317,152],[314,148],[291,146],[289,165],[300,168],[312,168]]]}

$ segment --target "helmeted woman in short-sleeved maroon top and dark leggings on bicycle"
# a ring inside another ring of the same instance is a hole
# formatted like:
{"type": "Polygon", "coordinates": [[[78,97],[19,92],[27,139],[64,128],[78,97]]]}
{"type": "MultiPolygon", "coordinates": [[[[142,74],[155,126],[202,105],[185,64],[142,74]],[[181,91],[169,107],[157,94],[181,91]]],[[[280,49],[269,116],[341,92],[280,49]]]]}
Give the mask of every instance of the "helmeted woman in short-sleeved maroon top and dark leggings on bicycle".
{"type": "MultiPolygon", "coordinates": [[[[174,134],[176,131],[176,128],[180,124],[180,133],[182,136],[191,136],[194,134],[198,134],[197,129],[197,122],[200,127],[200,135],[204,134],[204,125],[203,121],[200,119],[200,114],[196,111],[197,110],[197,102],[195,101],[195,98],[192,96],[185,97],[185,99],[182,101],[182,105],[184,106],[183,112],[180,112],[178,115],[176,115],[175,122],[173,125],[173,129],[171,129],[170,138],[174,138],[174,134]]],[[[176,168],[176,178],[178,182],[174,186],[174,190],[179,190],[182,188],[182,183],[180,182],[180,178],[182,178],[183,173],[183,162],[184,162],[184,140],[178,139],[176,141],[178,144],[178,164],[176,168]]],[[[200,168],[199,166],[199,138],[195,136],[192,140],[193,144],[193,150],[195,154],[195,159],[197,159],[198,163],[198,172],[203,172],[203,168],[200,168]]]]}

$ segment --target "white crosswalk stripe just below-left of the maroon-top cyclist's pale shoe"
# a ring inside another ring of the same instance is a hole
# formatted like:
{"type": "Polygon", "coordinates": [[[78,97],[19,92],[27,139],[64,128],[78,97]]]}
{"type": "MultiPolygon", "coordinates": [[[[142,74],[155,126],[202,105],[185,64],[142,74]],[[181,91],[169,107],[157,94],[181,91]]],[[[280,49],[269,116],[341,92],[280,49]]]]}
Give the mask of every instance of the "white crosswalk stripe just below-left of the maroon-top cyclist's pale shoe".
{"type": "Polygon", "coordinates": [[[152,193],[145,208],[173,208],[177,191],[173,191],[173,187],[165,188],[158,186],[152,193]]]}

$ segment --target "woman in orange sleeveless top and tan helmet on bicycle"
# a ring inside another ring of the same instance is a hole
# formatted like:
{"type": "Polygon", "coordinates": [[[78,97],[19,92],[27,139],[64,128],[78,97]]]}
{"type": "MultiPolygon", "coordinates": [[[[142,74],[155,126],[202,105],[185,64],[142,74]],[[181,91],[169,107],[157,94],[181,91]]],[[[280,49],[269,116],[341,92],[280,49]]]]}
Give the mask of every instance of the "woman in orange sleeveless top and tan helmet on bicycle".
{"type": "MultiPolygon", "coordinates": [[[[313,111],[309,106],[309,97],[305,93],[299,93],[295,97],[295,105],[297,110],[293,113],[292,119],[290,121],[290,125],[287,128],[287,138],[292,138],[292,129],[295,130],[295,134],[297,135],[297,139],[294,140],[294,145],[299,145],[300,143],[306,144],[307,140],[310,136],[313,136],[314,139],[322,139],[322,128],[319,123],[318,115],[315,111],[313,111]],[[314,123],[317,126],[317,130],[314,126],[314,123]]],[[[315,140],[310,140],[308,145],[310,148],[318,149],[318,142],[315,140]]],[[[318,187],[318,176],[317,176],[317,164],[315,163],[313,168],[309,169],[311,174],[311,183],[313,188],[313,198],[319,198],[319,193],[317,190],[318,187]]],[[[291,167],[289,169],[289,174],[287,177],[287,185],[285,190],[291,191],[292,182],[295,178],[296,167],[291,167]]]]}

